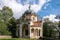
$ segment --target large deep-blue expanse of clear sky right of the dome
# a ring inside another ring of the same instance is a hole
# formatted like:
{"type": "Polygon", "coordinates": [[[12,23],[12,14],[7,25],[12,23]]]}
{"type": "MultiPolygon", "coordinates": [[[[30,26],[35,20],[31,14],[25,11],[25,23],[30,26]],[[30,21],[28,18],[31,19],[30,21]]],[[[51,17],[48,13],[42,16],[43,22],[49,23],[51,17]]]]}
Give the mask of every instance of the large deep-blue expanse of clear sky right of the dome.
{"type": "Polygon", "coordinates": [[[42,7],[41,11],[38,12],[38,14],[40,16],[46,16],[50,14],[60,15],[60,0],[51,0],[50,2],[44,4],[44,6],[42,7]]]}

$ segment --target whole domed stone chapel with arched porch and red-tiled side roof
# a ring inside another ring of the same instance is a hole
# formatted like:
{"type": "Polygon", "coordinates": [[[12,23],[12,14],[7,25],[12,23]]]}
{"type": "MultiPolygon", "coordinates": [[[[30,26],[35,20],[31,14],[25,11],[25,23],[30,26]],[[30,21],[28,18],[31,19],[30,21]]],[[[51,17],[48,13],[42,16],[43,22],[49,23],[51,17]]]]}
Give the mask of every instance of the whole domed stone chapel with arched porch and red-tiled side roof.
{"type": "Polygon", "coordinates": [[[17,36],[20,38],[43,37],[43,21],[38,20],[37,14],[30,9],[26,10],[18,21],[17,36]]]}

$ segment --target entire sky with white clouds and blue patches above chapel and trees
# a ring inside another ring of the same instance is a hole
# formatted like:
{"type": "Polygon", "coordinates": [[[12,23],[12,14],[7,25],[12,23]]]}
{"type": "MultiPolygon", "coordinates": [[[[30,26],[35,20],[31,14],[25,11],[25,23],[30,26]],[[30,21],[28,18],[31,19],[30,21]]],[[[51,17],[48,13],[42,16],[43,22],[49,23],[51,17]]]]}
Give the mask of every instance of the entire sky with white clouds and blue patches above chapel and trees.
{"type": "Polygon", "coordinates": [[[39,17],[49,18],[51,21],[58,21],[54,17],[60,15],[60,0],[0,0],[0,9],[8,6],[12,9],[14,17],[18,19],[28,10],[34,10],[39,17]]]}

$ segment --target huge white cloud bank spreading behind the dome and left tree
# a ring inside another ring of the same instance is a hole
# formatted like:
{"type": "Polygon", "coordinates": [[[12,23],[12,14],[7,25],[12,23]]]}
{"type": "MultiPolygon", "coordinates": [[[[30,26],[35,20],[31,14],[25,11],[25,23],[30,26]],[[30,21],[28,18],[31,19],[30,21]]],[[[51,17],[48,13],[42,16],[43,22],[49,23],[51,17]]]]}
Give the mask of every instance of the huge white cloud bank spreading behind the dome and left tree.
{"type": "MultiPolygon", "coordinates": [[[[2,7],[8,6],[13,10],[13,13],[14,13],[13,16],[16,19],[18,19],[24,13],[24,11],[26,11],[28,9],[29,1],[32,1],[32,0],[27,0],[26,2],[24,2],[24,5],[22,5],[21,3],[18,3],[17,0],[0,0],[2,7]]],[[[41,10],[42,6],[46,2],[48,2],[48,0],[39,0],[38,4],[31,5],[31,9],[37,13],[39,10],[41,10]]],[[[35,3],[35,2],[33,2],[33,3],[35,3]]]]}

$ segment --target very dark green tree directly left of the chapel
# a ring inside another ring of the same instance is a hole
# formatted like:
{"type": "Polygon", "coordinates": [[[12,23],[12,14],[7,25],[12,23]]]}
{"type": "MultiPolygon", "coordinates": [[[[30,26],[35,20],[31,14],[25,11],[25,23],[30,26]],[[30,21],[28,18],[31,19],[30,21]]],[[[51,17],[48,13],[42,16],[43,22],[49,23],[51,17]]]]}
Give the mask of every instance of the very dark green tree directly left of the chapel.
{"type": "Polygon", "coordinates": [[[16,37],[16,20],[14,17],[11,18],[9,21],[8,28],[9,31],[11,32],[12,37],[16,37]]]}

